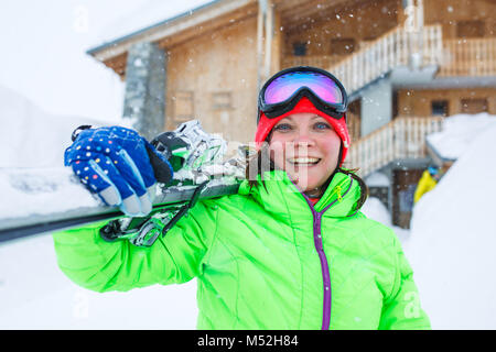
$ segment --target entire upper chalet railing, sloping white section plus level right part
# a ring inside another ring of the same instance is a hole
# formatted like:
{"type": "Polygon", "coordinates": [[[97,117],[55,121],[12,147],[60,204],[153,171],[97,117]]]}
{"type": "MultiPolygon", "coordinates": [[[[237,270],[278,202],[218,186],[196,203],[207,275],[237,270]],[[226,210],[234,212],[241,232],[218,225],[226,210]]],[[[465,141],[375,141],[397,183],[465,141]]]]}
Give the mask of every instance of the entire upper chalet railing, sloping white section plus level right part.
{"type": "Polygon", "coordinates": [[[425,26],[417,38],[396,28],[373,42],[362,42],[351,55],[290,56],[282,66],[326,68],[353,92],[396,66],[408,65],[414,52],[422,53],[423,65],[440,65],[438,77],[496,76],[496,37],[445,40],[439,25],[425,26]]]}

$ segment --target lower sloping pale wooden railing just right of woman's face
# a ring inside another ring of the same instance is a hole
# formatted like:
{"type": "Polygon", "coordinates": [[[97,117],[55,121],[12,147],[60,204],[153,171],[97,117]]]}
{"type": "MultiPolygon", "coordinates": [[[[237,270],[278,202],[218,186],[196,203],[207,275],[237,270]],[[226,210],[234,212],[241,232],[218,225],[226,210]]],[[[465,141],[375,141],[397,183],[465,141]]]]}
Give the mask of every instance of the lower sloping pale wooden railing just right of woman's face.
{"type": "Polygon", "coordinates": [[[396,160],[427,156],[425,136],[442,129],[440,117],[399,117],[388,124],[353,142],[345,166],[358,167],[362,176],[396,160]]]}

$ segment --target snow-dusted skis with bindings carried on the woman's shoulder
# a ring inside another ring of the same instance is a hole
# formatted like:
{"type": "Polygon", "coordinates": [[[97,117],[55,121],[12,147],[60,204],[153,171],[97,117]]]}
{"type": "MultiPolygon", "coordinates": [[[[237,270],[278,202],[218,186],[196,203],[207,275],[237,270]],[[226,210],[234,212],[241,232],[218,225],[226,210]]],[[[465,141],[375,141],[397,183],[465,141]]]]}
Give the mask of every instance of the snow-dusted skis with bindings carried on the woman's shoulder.
{"type": "MultiPolygon", "coordinates": [[[[168,157],[180,163],[181,168],[174,174],[172,184],[158,184],[150,215],[119,220],[119,231],[105,237],[107,240],[121,238],[136,245],[151,245],[157,233],[153,238],[152,231],[145,233],[142,230],[150,229],[151,221],[158,221],[161,215],[170,217],[160,219],[169,221],[170,228],[197,200],[238,191],[247,156],[245,145],[238,147],[236,157],[224,161],[226,142],[204,132],[196,120],[162,133],[153,144],[159,152],[172,153],[168,157]],[[160,143],[164,140],[174,140],[177,147],[164,151],[160,143]]],[[[3,204],[0,209],[0,243],[125,218],[118,207],[107,207],[98,196],[89,193],[68,167],[3,168],[0,169],[0,189],[4,199],[12,202],[3,204]]]]}

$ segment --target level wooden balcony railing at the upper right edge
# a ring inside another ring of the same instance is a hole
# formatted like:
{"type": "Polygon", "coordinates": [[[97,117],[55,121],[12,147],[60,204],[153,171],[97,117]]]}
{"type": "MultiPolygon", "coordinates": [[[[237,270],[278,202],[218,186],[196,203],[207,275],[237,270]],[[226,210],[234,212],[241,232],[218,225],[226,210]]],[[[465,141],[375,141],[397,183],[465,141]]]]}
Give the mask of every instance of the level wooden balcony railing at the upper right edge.
{"type": "Polygon", "coordinates": [[[496,76],[496,37],[444,40],[438,76],[496,76]]]}

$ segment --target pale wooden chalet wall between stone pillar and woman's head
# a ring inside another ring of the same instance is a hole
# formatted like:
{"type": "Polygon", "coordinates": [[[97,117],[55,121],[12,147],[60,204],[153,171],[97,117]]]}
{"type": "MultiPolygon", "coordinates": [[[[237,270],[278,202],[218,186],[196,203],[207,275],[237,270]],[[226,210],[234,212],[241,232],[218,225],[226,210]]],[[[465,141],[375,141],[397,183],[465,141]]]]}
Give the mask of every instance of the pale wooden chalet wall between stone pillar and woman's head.
{"type": "Polygon", "coordinates": [[[252,141],[257,112],[257,18],[169,50],[165,129],[196,118],[228,141],[252,141]]]}

